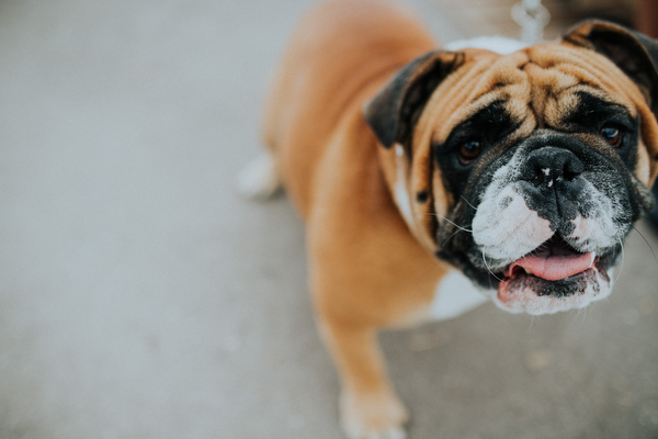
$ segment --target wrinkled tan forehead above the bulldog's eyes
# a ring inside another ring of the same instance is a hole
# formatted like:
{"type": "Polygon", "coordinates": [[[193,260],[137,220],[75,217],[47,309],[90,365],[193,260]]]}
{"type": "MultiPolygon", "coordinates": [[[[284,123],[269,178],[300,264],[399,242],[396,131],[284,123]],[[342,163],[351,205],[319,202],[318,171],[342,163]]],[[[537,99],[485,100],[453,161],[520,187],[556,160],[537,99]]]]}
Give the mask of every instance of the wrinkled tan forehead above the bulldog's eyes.
{"type": "Polygon", "coordinates": [[[635,117],[642,93],[612,61],[594,52],[543,44],[510,55],[476,56],[449,77],[432,94],[419,128],[444,142],[463,121],[496,106],[527,128],[558,127],[591,100],[625,109],[635,117]],[[441,126],[422,126],[445,121],[441,126]]]}

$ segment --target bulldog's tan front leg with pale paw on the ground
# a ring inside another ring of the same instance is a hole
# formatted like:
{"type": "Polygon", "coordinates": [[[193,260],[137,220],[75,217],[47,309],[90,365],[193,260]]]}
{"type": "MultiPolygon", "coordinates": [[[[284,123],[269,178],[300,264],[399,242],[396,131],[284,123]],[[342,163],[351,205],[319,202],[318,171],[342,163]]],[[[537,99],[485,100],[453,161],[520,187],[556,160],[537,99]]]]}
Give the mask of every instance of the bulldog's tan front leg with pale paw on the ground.
{"type": "Polygon", "coordinates": [[[407,409],[392,389],[376,329],[319,323],[341,379],[341,424],[350,439],[404,439],[407,409]]]}

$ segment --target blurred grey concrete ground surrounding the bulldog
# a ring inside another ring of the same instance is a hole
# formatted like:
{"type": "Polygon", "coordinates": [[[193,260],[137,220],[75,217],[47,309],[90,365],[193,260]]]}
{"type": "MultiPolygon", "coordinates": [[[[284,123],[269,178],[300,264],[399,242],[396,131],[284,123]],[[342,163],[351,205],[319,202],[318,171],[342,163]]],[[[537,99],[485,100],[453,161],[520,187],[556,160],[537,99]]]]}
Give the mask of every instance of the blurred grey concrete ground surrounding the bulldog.
{"type": "MultiPolygon", "coordinates": [[[[302,224],[232,189],[310,3],[0,1],[0,438],[341,437],[302,224]]],[[[410,3],[443,40],[477,34],[477,1],[410,3]]],[[[384,334],[410,437],[658,437],[638,229],[587,312],[384,334]]]]}

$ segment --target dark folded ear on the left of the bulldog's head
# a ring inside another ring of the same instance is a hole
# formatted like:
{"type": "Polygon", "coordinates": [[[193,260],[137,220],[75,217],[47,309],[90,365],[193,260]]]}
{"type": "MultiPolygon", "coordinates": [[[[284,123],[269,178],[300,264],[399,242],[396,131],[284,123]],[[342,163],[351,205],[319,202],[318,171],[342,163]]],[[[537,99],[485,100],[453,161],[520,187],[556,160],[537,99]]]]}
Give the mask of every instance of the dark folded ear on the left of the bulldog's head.
{"type": "Polygon", "coordinates": [[[430,52],[406,65],[363,106],[363,115],[384,147],[411,138],[424,105],[439,83],[462,66],[458,52],[430,52]]]}

